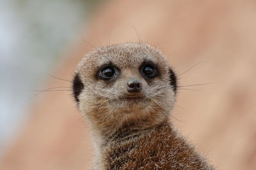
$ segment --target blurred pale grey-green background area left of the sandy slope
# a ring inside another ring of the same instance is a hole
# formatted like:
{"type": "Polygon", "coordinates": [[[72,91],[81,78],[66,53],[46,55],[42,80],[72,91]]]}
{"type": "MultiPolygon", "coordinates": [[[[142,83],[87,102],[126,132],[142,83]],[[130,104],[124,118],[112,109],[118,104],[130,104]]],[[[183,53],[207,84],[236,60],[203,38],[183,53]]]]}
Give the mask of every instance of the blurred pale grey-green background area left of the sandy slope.
{"type": "Polygon", "coordinates": [[[28,118],[35,92],[63,57],[98,1],[1,0],[0,6],[0,155],[28,118]],[[31,99],[30,99],[31,98],[31,99]]]}

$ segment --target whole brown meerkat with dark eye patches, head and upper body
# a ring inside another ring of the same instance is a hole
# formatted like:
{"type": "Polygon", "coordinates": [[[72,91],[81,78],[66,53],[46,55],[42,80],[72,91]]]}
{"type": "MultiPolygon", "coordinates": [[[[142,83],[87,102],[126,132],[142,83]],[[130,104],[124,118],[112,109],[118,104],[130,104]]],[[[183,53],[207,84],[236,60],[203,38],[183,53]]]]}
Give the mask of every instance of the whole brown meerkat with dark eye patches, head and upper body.
{"type": "Polygon", "coordinates": [[[156,48],[96,48],[79,62],[72,88],[91,130],[93,169],[214,169],[170,122],[177,78],[156,48]]]}

